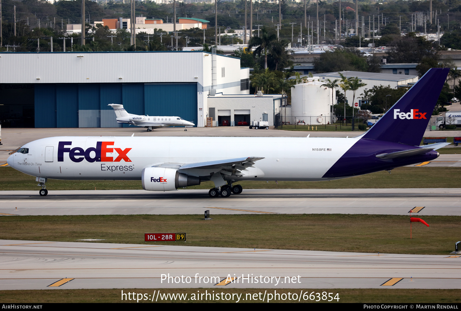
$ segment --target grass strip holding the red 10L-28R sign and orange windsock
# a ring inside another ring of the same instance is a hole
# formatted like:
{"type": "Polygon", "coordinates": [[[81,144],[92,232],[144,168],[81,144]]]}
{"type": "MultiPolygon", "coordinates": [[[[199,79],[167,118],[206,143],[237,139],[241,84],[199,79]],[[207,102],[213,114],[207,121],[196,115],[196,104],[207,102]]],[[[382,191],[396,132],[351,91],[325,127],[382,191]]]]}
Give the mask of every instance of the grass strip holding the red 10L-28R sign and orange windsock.
{"type": "MultiPolygon", "coordinates": [[[[204,208],[205,209],[205,208],[204,208]]],[[[3,216],[0,239],[447,255],[461,216],[242,214],[3,216]],[[185,232],[187,242],[144,242],[144,233],[185,232]]],[[[458,240],[457,240],[458,239],[458,240]]]]}

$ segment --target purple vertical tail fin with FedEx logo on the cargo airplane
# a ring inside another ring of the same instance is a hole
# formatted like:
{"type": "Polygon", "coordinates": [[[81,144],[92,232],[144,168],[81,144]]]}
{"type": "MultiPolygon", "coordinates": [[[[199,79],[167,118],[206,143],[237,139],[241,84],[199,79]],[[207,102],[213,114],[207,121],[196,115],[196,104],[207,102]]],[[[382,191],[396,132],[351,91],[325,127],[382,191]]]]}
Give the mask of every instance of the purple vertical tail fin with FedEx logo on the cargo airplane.
{"type": "Polygon", "coordinates": [[[431,68],[361,138],[419,146],[449,68],[431,68]]]}

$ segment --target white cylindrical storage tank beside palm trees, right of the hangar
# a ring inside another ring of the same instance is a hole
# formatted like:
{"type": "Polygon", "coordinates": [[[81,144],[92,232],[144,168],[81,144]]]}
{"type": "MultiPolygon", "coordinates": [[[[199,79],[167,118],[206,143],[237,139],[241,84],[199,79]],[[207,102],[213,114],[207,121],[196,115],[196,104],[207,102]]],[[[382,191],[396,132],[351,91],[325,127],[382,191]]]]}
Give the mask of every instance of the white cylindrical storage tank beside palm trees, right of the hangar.
{"type": "Polygon", "coordinates": [[[290,124],[309,125],[331,124],[331,104],[336,103],[336,89],[321,87],[325,82],[320,77],[303,78],[291,88],[290,124]],[[331,99],[333,96],[333,100],[331,99]]]}

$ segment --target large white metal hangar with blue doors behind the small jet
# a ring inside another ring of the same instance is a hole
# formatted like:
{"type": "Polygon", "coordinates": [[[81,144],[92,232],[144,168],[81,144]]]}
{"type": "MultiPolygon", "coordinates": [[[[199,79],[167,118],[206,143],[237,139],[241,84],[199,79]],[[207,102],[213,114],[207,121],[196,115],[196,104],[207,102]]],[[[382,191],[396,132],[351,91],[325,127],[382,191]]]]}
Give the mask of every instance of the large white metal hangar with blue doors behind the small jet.
{"type": "Polygon", "coordinates": [[[0,70],[5,127],[119,127],[108,104],[203,127],[210,89],[249,94],[240,59],[202,51],[0,53],[0,70]]]}

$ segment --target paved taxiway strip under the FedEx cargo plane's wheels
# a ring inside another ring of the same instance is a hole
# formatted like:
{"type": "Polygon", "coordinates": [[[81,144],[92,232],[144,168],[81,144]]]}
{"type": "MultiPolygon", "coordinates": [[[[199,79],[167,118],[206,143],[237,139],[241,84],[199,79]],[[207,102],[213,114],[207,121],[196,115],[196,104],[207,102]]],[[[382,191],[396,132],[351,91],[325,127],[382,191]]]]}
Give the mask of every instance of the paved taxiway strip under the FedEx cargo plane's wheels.
{"type": "Polygon", "coordinates": [[[210,198],[208,190],[0,191],[2,215],[113,215],[344,213],[461,215],[460,188],[408,189],[244,189],[229,198],[210,198]]]}

